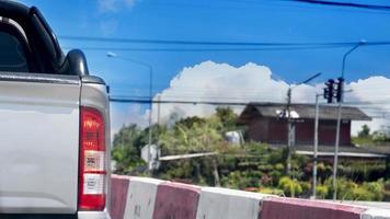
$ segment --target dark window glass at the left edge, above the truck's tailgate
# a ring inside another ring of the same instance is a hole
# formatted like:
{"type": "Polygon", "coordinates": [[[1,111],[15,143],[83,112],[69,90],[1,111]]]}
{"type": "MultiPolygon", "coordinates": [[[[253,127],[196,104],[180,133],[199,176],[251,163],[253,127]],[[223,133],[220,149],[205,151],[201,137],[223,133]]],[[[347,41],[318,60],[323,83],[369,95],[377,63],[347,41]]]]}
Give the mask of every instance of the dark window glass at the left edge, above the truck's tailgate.
{"type": "Polygon", "coordinates": [[[23,44],[5,32],[0,32],[0,71],[28,72],[23,44]]]}

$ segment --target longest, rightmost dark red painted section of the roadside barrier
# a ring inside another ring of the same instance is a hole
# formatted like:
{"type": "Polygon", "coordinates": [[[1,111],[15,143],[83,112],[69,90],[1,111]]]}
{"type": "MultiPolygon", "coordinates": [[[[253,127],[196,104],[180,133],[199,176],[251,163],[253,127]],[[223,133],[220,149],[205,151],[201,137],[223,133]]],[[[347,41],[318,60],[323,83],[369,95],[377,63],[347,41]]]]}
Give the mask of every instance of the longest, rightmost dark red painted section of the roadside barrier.
{"type": "Polygon", "coordinates": [[[297,198],[263,200],[261,219],[360,219],[365,208],[297,198]]]}

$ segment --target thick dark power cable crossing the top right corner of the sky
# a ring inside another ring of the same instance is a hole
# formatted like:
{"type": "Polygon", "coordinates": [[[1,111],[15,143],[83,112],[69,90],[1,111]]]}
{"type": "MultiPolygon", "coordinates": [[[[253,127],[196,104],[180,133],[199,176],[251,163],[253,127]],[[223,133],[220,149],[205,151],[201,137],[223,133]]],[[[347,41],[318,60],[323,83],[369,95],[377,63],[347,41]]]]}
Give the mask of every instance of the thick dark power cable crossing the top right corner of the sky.
{"type": "Polygon", "coordinates": [[[330,7],[343,7],[343,8],[390,11],[390,5],[375,5],[375,4],[354,3],[354,2],[323,1],[323,0],[279,0],[279,1],[301,2],[301,3],[330,5],[330,7]]]}

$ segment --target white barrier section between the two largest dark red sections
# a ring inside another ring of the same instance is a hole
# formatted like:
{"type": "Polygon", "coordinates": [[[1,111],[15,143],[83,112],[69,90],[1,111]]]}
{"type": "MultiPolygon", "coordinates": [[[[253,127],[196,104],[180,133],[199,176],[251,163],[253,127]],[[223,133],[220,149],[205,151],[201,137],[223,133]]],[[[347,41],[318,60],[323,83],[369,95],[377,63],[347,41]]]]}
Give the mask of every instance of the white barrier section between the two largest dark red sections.
{"type": "Polygon", "coordinates": [[[257,219],[260,205],[264,197],[259,193],[249,193],[227,188],[204,187],[197,209],[197,219],[257,219]]]}

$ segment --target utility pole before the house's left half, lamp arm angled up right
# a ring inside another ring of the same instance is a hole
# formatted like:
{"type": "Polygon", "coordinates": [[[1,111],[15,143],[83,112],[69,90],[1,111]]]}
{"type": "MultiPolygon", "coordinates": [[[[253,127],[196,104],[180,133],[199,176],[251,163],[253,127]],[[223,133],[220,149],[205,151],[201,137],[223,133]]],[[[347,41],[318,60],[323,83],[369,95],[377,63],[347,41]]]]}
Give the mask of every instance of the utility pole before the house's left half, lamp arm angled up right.
{"type": "Polygon", "coordinates": [[[287,164],[286,164],[286,174],[290,175],[291,172],[291,157],[292,150],[295,147],[295,124],[294,118],[291,117],[291,95],[292,89],[297,88],[300,84],[306,84],[311,80],[316,79],[317,77],[321,76],[321,73],[316,73],[314,76],[308,78],[307,80],[296,84],[294,88],[288,88],[287,90],[287,105],[284,112],[284,117],[287,118],[287,164]]]}

